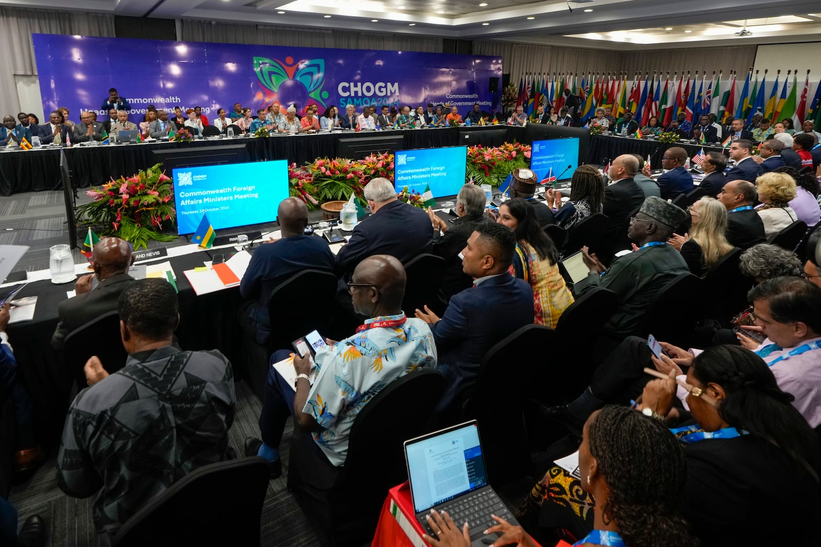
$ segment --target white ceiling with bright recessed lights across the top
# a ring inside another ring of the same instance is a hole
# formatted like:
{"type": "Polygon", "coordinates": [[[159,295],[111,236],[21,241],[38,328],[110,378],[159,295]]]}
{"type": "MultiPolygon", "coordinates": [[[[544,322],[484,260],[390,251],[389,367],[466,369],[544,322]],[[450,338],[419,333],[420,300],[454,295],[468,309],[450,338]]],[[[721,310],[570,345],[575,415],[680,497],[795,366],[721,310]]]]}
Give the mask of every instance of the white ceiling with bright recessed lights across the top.
{"type": "Polygon", "coordinates": [[[0,6],[582,48],[618,43],[622,50],[821,41],[819,0],[0,0],[0,6]],[[753,34],[737,37],[745,21],[753,34]]]}

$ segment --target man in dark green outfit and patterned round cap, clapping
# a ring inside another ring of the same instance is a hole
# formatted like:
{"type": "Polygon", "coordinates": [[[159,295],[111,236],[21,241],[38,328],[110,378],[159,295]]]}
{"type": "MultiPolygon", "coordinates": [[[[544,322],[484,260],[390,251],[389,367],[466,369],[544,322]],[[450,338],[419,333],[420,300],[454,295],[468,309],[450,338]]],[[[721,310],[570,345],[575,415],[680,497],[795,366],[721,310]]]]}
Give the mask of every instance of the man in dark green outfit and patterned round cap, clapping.
{"type": "Polygon", "coordinates": [[[608,333],[619,337],[635,334],[658,291],[690,271],[681,254],[667,244],[673,230],[686,216],[684,209],[650,196],[631,218],[627,230],[637,250],[616,258],[605,269],[595,254],[589,254],[588,248],[582,247],[582,257],[590,272],[576,283],[573,292],[578,298],[593,287],[603,287],[618,295],[619,307],[604,326],[608,333]]]}

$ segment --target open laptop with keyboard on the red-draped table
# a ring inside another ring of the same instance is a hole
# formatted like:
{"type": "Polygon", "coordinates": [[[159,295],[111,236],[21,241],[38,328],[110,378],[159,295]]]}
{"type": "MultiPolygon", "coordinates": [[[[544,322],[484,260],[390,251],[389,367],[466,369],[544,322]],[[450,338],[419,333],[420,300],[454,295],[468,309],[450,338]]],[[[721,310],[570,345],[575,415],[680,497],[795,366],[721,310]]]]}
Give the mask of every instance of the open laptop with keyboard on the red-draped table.
{"type": "Polygon", "coordinates": [[[492,545],[501,536],[484,535],[498,524],[491,514],[519,526],[490,486],[475,420],[406,440],[405,462],[416,520],[429,536],[436,537],[426,518],[432,508],[446,511],[460,529],[467,522],[475,547],[492,545]]]}

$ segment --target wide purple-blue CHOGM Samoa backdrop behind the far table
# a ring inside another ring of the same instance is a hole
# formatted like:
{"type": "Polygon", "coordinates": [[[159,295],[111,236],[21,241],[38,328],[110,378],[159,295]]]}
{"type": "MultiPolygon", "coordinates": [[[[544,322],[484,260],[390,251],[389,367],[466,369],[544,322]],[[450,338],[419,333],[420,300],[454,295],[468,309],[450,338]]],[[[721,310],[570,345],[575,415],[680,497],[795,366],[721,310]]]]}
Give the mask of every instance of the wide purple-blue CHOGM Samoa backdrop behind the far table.
{"type": "Polygon", "coordinates": [[[404,106],[452,103],[463,114],[474,103],[497,112],[501,92],[488,91],[502,77],[502,57],[364,49],[291,48],[244,43],[90,38],[32,34],[46,116],[67,107],[101,112],[108,89],[131,104],[131,121],[145,108],[200,106],[213,120],[234,103],[258,108],[296,103],[404,106]]]}

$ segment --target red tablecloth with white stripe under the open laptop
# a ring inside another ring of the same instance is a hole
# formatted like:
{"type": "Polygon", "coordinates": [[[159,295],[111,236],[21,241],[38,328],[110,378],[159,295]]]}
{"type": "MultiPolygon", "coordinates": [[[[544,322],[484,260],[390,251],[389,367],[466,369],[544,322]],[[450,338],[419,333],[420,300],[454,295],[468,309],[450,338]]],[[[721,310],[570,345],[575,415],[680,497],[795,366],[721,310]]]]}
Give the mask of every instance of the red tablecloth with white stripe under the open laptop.
{"type": "MultiPolygon", "coordinates": [[[[429,547],[422,539],[422,526],[416,522],[410,485],[394,486],[388,491],[388,499],[382,506],[371,547],[429,547]]],[[[534,545],[539,544],[534,541],[534,545]]],[[[570,547],[564,541],[557,547],[570,547]]]]}

